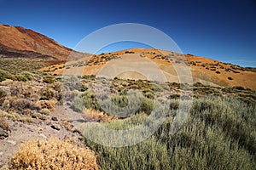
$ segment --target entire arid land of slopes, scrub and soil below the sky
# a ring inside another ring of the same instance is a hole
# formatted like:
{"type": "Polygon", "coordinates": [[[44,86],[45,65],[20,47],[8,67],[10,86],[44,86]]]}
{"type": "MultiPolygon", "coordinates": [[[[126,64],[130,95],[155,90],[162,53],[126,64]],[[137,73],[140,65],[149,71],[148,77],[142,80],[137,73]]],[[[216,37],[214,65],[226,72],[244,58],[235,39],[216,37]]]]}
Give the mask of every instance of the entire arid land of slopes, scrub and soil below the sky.
{"type": "Polygon", "coordinates": [[[152,48],[88,56],[6,25],[0,38],[0,169],[256,166],[254,68],[152,48]],[[70,53],[78,58],[66,61],[70,53]],[[189,76],[179,67],[189,68],[192,82],[180,82],[189,76]],[[118,69],[124,72],[108,77],[118,69]],[[187,116],[180,105],[189,107],[187,116]],[[94,128],[126,132],[151,125],[152,115],[166,119],[125,147],[108,147],[115,138],[94,128]]]}

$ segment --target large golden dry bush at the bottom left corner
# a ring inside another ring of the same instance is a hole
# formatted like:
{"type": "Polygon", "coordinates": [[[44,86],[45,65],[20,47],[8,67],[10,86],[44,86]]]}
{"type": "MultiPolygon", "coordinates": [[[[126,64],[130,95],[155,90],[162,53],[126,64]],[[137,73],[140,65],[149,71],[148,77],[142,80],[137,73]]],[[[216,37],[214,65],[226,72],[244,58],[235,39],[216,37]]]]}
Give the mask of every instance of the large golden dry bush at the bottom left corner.
{"type": "Polygon", "coordinates": [[[94,152],[61,139],[30,140],[20,146],[10,169],[98,169],[94,152]]]}

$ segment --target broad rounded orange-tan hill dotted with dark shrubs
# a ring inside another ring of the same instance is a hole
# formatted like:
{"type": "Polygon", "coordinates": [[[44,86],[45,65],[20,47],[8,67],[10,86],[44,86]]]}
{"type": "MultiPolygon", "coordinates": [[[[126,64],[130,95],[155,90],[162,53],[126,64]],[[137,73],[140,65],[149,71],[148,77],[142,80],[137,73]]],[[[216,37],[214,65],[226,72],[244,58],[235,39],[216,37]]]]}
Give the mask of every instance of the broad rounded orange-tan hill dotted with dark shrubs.
{"type": "MultiPolygon", "coordinates": [[[[163,73],[168,82],[179,82],[176,68],[188,65],[193,82],[217,87],[241,86],[256,89],[256,73],[253,69],[243,68],[214,59],[207,59],[192,54],[178,54],[171,51],[152,48],[131,48],[107,54],[91,55],[90,59],[84,58],[69,61],[66,65],[55,65],[43,70],[55,74],[75,75],[103,75],[117,69],[127,70],[117,77],[125,79],[146,79],[137,70],[146,70],[154,74],[154,65],[163,73]],[[147,62],[152,63],[147,64],[147,62]],[[110,69],[106,69],[110,68],[110,69]],[[134,71],[133,71],[134,70],[134,71]]],[[[179,75],[180,76],[180,75],[179,75]]],[[[183,77],[189,77],[184,74],[183,77]]]]}

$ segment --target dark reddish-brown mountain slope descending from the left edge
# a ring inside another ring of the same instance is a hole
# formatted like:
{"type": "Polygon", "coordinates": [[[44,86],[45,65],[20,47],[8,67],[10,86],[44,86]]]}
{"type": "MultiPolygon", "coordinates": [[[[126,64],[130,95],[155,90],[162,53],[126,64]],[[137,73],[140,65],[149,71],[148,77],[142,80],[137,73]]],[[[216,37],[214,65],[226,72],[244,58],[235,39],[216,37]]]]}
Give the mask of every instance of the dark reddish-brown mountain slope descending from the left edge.
{"type": "Polygon", "coordinates": [[[3,24],[0,25],[0,54],[58,60],[66,60],[70,54],[75,58],[88,56],[66,48],[36,31],[3,24]]]}

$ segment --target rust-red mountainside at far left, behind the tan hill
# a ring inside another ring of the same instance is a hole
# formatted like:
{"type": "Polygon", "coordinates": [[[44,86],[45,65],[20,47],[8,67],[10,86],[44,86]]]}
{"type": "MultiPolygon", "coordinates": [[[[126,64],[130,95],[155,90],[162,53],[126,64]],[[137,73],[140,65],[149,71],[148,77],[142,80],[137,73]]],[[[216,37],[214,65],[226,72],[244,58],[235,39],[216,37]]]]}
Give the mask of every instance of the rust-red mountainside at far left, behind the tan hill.
{"type": "MultiPolygon", "coordinates": [[[[49,55],[55,59],[66,60],[73,51],[55,42],[49,37],[22,28],[20,26],[0,25],[0,45],[20,51],[32,51],[39,54],[49,55]]],[[[78,57],[86,54],[74,52],[78,57]]]]}

